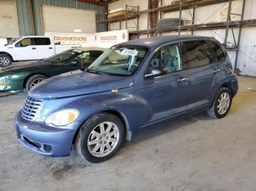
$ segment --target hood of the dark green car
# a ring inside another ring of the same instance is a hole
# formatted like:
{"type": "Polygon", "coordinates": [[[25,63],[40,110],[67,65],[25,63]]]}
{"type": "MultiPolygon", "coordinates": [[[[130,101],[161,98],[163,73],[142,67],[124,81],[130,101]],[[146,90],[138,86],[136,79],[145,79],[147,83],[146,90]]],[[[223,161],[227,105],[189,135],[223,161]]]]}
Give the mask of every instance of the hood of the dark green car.
{"type": "Polygon", "coordinates": [[[1,68],[0,74],[23,72],[31,69],[37,69],[41,64],[47,64],[47,63],[40,63],[39,61],[12,63],[12,65],[10,66],[1,68]]]}

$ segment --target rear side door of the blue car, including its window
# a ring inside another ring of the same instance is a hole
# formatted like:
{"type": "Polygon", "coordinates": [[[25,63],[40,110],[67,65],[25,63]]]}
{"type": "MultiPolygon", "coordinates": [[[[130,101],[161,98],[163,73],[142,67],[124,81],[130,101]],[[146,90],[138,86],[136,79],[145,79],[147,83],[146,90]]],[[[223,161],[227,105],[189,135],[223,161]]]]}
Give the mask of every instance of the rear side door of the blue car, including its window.
{"type": "Polygon", "coordinates": [[[205,40],[182,43],[184,63],[188,67],[188,109],[207,106],[214,93],[214,78],[218,71],[214,50],[205,40]]]}

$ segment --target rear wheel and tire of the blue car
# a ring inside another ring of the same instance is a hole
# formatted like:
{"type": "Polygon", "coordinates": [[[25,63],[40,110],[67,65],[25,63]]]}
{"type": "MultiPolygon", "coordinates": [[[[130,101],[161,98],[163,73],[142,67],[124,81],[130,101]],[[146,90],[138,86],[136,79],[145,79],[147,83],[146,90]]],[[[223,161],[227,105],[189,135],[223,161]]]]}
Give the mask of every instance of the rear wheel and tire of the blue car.
{"type": "Polygon", "coordinates": [[[230,89],[228,89],[227,87],[222,87],[221,89],[219,89],[218,93],[215,95],[214,103],[212,104],[211,108],[207,110],[207,113],[209,116],[216,119],[225,117],[227,113],[230,111],[231,104],[232,104],[232,93],[230,89]],[[228,103],[227,103],[227,97],[223,97],[225,95],[227,95],[229,99],[228,103]],[[221,104],[222,97],[226,101],[222,101],[222,104],[221,104]]]}

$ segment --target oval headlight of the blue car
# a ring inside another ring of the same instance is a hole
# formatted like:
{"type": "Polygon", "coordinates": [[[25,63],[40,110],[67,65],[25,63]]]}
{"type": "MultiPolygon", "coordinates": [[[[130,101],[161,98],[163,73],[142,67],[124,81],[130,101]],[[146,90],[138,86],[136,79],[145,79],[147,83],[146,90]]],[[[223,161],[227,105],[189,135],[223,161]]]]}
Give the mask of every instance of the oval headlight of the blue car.
{"type": "Polygon", "coordinates": [[[78,109],[64,109],[59,112],[50,114],[45,119],[45,123],[53,124],[56,126],[64,126],[75,121],[79,116],[78,109]]]}

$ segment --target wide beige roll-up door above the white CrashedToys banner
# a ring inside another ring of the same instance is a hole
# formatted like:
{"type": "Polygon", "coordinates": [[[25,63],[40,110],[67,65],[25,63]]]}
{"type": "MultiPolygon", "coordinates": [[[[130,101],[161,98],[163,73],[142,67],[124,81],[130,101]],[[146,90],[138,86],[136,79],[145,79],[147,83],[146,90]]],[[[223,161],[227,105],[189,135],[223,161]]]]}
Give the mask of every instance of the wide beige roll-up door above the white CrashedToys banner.
{"type": "Polygon", "coordinates": [[[96,32],[96,12],[42,5],[42,27],[44,31],[59,33],[96,32]]]}

